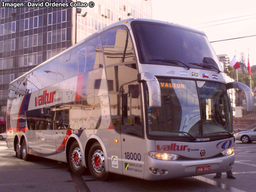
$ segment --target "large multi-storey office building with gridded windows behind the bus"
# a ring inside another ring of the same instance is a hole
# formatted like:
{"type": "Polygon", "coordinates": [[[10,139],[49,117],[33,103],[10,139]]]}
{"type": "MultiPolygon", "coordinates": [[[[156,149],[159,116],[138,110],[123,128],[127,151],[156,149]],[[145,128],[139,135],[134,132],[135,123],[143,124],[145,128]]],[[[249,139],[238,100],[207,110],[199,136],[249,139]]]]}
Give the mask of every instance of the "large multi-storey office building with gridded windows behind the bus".
{"type": "MultiPolygon", "coordinates": [[[[27,4],[28,1],[4,2],[27,4]]],[[[45,2],[69,4],[71,0],[45,2]]],[[[0,7],[0,116],[6,116],[9,83],[14,79],[114,22],[132,17],[152,19],[152,0],[92,2],[92,8],[79,7],[82,10],[77,14],[76,7],[70,6],[0,7]]]]}

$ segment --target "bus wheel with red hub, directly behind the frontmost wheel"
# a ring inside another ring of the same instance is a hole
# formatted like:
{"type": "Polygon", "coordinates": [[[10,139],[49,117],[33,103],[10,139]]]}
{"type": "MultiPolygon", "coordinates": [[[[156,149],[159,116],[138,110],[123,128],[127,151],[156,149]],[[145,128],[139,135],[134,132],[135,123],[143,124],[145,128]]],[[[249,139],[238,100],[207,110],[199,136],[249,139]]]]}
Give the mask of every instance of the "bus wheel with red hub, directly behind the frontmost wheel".
{"type": "Polygon", "coordinates": [[[82,165],[82,155],[78,143],[75,141],[71,144],[69,150],[69,165],[73,173],[81,175],[85,167],[82,165]]]}

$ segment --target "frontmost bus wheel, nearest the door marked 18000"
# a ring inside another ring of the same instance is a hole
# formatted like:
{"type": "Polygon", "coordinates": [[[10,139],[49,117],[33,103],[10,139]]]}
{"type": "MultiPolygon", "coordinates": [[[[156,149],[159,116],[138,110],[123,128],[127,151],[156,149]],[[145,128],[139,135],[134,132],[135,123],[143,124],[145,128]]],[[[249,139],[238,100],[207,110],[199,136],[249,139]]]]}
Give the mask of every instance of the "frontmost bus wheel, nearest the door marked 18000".
{"type": "Polygon", "coordinates": [[[89,170],[96,180],[106,180],[108,172],[105,169],[105,158],[99,142],[92,144],[88,155],[89,170]]]}

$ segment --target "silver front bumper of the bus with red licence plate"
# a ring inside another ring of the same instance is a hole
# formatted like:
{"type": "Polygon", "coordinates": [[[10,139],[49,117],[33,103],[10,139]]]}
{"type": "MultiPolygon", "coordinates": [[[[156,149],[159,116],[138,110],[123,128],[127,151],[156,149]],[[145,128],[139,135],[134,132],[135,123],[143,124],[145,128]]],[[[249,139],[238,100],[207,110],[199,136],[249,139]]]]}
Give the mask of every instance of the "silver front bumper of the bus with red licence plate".
{"type": "Polygon", "coordinates": [[[191,177],[231,170],[235,154],[212,159],[191,161],[164,161],[145,157],[144,179],[164,180],[191,177]]]}

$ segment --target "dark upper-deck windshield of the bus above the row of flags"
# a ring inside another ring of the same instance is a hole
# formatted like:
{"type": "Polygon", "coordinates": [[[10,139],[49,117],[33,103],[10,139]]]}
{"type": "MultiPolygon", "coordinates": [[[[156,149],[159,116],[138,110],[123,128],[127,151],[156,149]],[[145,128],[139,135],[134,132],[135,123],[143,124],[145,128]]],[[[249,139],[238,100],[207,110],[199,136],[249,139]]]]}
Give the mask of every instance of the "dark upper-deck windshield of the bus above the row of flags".
{"type": "Polygon", "coordinates": [[[220,62],[204,33],[141,21],[132,22],[132,30],[142,64],[222,71],[220,62]]]}

